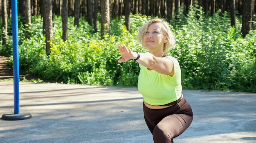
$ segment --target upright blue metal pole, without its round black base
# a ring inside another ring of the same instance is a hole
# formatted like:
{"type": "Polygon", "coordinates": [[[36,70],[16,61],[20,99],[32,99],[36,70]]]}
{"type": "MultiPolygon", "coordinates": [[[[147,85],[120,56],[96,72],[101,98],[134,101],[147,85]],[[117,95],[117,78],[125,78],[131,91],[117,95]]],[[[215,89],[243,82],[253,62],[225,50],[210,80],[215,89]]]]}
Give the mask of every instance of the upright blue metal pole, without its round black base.
{"type": "Polygon", "coordinates": [[[19,101],[19,49],[18,49],[18,6],[17,0],[11,0],[12,41],[13,41],[13,85],[14,114],[20,114],[19,101]]]}

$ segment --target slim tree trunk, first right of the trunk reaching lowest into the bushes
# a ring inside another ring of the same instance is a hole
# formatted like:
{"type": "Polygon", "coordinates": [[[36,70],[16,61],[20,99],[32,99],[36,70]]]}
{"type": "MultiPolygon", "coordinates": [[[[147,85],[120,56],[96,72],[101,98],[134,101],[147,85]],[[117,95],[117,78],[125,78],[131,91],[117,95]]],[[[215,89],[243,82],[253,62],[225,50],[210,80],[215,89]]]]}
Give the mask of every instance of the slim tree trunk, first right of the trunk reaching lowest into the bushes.
{"type": "Polygon", "coordinates": [[[62,5],[62,39],[63,41],[67,41],[67,6],[68,6],[68,0],[63,0],[62,5]]]}

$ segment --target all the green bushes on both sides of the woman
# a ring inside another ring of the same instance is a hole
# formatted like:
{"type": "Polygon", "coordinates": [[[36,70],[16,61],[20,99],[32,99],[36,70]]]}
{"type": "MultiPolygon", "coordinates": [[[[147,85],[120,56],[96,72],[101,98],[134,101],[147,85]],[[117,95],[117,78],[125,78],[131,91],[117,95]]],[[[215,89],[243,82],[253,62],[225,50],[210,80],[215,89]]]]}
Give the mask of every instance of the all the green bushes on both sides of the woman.
{"type": "MultiPolygon", "coordinates": [[[[168,54],[180,62],[183,89],[256,92],[256,30],[242,38],[239,18],[234,28],[230,26],[227,13],[209,17],[204,15],[201,7],[190,8],[188,15],[181,12],[170,25],[177,43],[168,54]]],[[[137,32],[151,18],[130,15],[130,31],[124,26],[124,17],[113,19],[110,34],[101,39],[100,33],[93,33],[83,18],[80,26],[74,27],[70,17],[68,40],[63,41],[61,17],[55,16],[54,40],[51,54],[47,56],[43,21],[33,17],[31,29],[26,32],[29,38],[26,38],[23,26],[19,27],[20,69],[63,83],[137,86],[139,65],[132,60],[118,63],[121,54],[117,46],[126,45],[145,52],[137,41],[137,32]]],[[[10,39],[0,47],[0,54],[11,56],[10,39]]]]}

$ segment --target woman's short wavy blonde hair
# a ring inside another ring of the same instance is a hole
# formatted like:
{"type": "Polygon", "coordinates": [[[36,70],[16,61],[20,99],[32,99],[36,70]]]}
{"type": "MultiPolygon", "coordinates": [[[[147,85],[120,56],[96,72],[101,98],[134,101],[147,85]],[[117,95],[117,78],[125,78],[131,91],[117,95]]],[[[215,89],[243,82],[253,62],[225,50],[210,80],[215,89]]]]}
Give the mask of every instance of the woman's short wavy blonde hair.
{"type": "Polygon", "coordinates": [[[148,26],[150,24],[153,23],[159,23],[162,26],[162,31],[163,31],[163,35],[166,36],[168,35],[168,41],[164,44],[164,52],[169,51],[171,48],[174,48],[175,42],[176,42],[176,38],[174,33],[171,31],[171,29],[169,28],[169,25],[167,22],[165,22],[162,19],[158,19],[158,18],[154,18],[152,20],[149,20],[148,22],[146,22],[146,24],[144,24],[140,30],[139,33],[137,35],[137,39],[139,40],[139,42],[145,47],[145,45],[143,44],[143,36],[146,33],[148,26]]]}

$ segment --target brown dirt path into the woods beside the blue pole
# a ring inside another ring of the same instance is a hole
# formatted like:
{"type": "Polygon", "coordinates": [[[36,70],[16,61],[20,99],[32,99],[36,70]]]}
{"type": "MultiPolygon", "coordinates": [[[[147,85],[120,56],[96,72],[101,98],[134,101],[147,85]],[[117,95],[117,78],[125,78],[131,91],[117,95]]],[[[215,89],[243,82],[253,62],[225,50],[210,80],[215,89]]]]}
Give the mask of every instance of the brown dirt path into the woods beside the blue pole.
{"type": "MultiPolygon", "coordinates": [[[[7,66],[7,62],[6,62],[7,60],[8,60],[7,57],[0,56],[0,81],[13,78],[13,69],[7,66]]],[[[29,74],[20,74],[19,75],[20,81],[23,80],[24,76],[28,82],[31,80],[38,80],[37,76],[31,76],[29,74]]],[[[40,80],[42,79],[40,78],[40,80]]]]}

